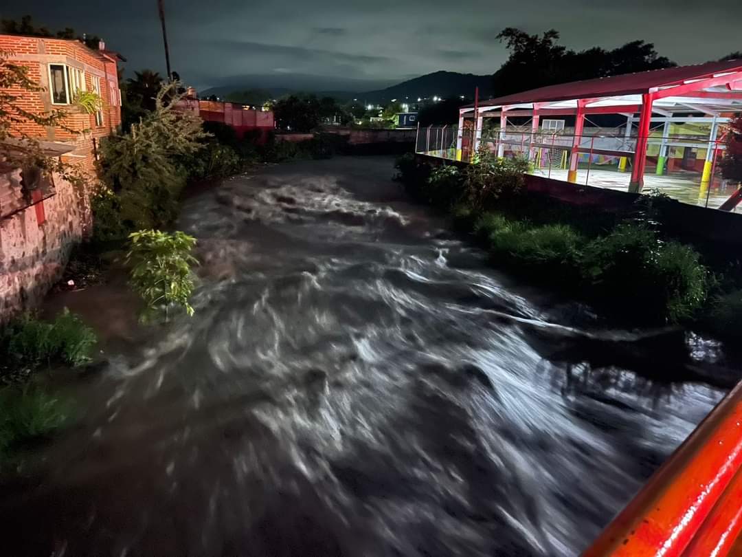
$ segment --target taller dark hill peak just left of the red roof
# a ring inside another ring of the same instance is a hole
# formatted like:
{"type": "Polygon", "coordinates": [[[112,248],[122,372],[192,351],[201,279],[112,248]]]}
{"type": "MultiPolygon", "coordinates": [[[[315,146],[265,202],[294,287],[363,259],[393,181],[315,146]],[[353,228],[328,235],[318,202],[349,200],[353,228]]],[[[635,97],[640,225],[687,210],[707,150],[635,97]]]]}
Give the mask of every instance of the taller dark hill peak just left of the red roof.
{"type": "Polygon", "coordinates": [[[474,97],[474,88],[479,86],[479,98],[490,97],[492,76],[459,74],[456,71],[436,71],[433,74],[408,79],[378,91],[358,93],[366,102],[385,104],[392,99],[417,100],[418,97],[474,97]]]}

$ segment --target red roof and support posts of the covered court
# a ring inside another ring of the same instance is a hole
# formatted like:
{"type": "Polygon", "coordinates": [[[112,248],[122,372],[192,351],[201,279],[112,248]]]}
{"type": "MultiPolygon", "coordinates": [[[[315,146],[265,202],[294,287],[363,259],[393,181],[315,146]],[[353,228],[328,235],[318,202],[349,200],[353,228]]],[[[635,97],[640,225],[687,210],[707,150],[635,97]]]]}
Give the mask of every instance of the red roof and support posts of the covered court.
{"type": "MultiPolygon", "coordinates": [[[[637,74],[587,79],[560,85],[549,85],[505,97],[467,105],[459,110],[459,136],[457,152],[462,149],[464,119],[473,117],[478,130],[473,140],[479,145],[482,119],[500,118],[500,133],[505,137],[508,117],[531,117],[533,134],[538,131],[540,116],[574,115],[576,117],[574,144],[570,151],[568,180],[577,177],[577,160],[580,154],[585,116],[588,114],[623,114],[631,119],[639,113],[639,126],[635,149],[605,154],[631,157],[629,191],[640,192],[646,165],[646,148],[650,134],[652,114],[659,114],[669,122],[673,114],[700,113],[713,118],[709,144],[714,144],[718,132],[718,117],[722,114],[742,112],[742,60],[708,62],[706,64],[665,68],[637,74]]],[[[502,141],[500,149],[502,149],[502,141]]],[[[709,152],[712,149],[709,149],[709,152]]],[[[498,153],[502,156],[502,152],[498,153]]],[[[712,172],[704,169],[704,176],[712,172]]]]}

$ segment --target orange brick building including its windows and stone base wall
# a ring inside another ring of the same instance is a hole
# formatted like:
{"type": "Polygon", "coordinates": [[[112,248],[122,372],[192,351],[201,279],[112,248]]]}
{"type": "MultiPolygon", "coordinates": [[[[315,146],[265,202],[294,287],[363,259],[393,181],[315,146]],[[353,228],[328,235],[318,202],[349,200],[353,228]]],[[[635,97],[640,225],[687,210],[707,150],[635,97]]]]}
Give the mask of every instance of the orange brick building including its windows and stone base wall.
{"type": "MultiPolygon", "coordinates": [[[[27,67],[30,79],[43,88],[8,89],[22,108],[68,113],[69,129],[23,122],[13,130],[38,139],[48,156],[61,157],[94,180],[99,141],[121,124],[119,56],[77,40],[15,35],[0,35],[0,51],[9,62],[27,67]],[[98,111],[88,114],[76,105],[81,90],[101,97],[98,111]]],[[[71,248],[91,227],[89,193],[59,175],[0,167],[0,319],[33,305],[59,280],[71,248]]]]}

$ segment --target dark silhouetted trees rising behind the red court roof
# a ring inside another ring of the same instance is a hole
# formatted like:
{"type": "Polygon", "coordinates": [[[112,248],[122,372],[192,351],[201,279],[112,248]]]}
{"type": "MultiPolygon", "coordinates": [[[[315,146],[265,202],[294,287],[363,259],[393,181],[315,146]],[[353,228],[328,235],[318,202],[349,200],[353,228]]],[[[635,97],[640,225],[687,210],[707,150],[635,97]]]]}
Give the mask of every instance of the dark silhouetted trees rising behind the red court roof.
{"type": "Polygon", "coordinates": [[[652,43],[644,41],[627,42],[611,51],[595,47],[575,52],[558,44],[559,32],[554,29],[539,36],[508,27],[497,38],[505,42],[510,57],[493,76],[496,96],[675,65],[659,56],[652,43]]]}

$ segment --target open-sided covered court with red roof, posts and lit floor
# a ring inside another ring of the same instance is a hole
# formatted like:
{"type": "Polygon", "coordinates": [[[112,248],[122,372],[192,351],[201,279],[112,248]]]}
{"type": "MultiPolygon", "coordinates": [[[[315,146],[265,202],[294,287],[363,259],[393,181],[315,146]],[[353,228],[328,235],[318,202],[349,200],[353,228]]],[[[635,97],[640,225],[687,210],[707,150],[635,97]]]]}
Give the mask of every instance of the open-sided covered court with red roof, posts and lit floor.
{"type": "Polygon", "coordinates": [[[724,124],[738,112],[742,60],[709,62],[551,85],[464,106],[455,137],[450,128],[440,145],[436,135],[431,149],[428,130],[426,148],[418,142],[417,150],[470,160],[487,143],[500,157],[528,157],[534,173],[557,180],[630,192],[657,188],[686,203],[718,206],[737,188],[718,177],[718,163],[724,124]],[[620,115],[626,126],[608,134],[585,126],[596,114],[620,115]],[[564,120],[562,129],[540,125],[559,117],[574,118],[574,131],[563,129],[564,120]],[[524,118],[525,126],[510,123],[524,118]],[[499,126],[487,126],[489,119],[499,126]]]}

